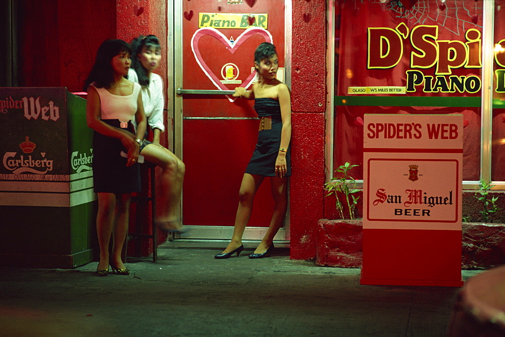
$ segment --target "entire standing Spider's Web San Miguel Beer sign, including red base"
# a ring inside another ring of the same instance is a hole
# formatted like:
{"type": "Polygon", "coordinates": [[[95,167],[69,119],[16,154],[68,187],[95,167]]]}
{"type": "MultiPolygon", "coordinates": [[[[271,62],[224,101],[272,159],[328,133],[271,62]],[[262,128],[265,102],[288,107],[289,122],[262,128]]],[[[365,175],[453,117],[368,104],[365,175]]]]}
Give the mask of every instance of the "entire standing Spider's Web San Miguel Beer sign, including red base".
{"type": "Polygon", "coordinates": [[[364,121],[361,283],[460,286],[463,116],[364,121]]]}

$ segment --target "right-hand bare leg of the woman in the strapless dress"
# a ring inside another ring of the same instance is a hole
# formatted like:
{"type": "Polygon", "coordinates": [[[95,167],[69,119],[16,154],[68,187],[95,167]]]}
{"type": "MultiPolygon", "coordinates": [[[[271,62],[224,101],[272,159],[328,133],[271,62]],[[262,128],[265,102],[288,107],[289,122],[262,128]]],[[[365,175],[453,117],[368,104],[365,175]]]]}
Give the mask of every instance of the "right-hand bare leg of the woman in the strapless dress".
{"type": "Polygon", "coordinates": [[[274,198],[275,209],[267,233],[261,240],[260,245],[254,251],[256,254],[264,253],[270,246],[272,246],[274,236],[279,231],[279,228],[282,226],[286,216],[287,177],[271,177],[270,184],[272,186],[272,197],[274,198]]]}

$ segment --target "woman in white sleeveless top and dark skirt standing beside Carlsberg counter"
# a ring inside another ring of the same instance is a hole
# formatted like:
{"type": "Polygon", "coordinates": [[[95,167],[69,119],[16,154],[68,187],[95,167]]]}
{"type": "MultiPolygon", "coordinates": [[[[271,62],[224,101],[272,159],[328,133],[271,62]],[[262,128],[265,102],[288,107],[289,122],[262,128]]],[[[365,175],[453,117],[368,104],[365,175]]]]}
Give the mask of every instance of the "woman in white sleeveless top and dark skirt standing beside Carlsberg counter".
{"type": "Polygon", "coordinates": [[[140,85],[125,78],[130,55],[130,45],[125,41],[104,41],[84,83],[88,91],[86,121],[95,131],[93,184],[98,195],[98,276],[107,276],[109,265],[116,274],[129,274],[121,260],[121,251],[128,231],[130,196],[140,190],[137,158],[146,128],[140,85]],[[132,121],[136,122],[136,130],[132,121]],[[127,152],[127,158],[121,157],[122,151],[127,152]],[[109,255],[111,235],[112,256],[109,255]]]}

